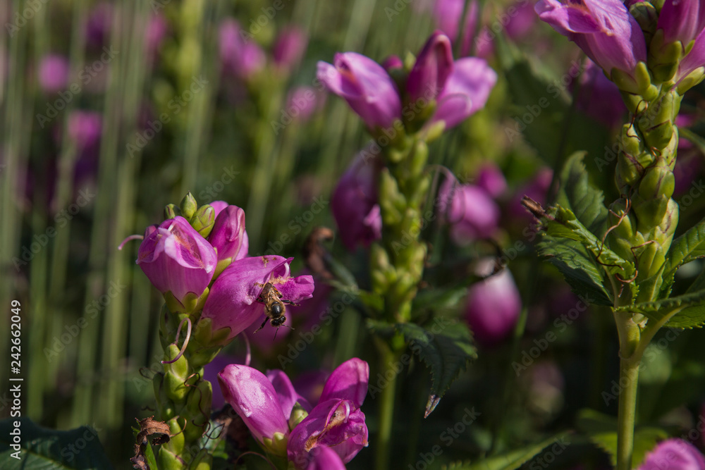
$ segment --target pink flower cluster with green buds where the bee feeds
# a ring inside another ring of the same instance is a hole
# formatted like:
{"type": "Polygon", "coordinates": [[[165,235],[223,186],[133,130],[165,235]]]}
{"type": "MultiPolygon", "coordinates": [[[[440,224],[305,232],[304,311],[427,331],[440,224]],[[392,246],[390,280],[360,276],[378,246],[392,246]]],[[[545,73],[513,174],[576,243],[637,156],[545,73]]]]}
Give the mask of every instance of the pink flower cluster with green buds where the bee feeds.
{"type": "Polygon", "coordinates": [[[187,196],[179,213],[149,226],[137,255],[171,311],[200,311],[200,325],[229,341],[262,314],[257,299],[266,283],[290,302],[312,296],[312,276],[290,276],[292,258],[247,256],[243,209],[222,201],[195,209],[187,196]]]}

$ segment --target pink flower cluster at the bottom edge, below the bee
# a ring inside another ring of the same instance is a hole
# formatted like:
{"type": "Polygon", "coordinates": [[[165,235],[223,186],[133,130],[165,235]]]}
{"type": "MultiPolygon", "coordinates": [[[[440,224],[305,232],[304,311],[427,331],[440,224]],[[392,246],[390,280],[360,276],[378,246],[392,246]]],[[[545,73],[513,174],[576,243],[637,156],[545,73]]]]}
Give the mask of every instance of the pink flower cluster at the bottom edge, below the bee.
{"type": "Polygon", "coordinates": [[[218,374],[223,397],[250,433],[271,454],[296,469],[345,469],[367,447],[367,425],[360,410],[367,395],[369,366],[353,358],[331,373],[312,406],[283,371],[266,375],[231,364],[218,374]]]}

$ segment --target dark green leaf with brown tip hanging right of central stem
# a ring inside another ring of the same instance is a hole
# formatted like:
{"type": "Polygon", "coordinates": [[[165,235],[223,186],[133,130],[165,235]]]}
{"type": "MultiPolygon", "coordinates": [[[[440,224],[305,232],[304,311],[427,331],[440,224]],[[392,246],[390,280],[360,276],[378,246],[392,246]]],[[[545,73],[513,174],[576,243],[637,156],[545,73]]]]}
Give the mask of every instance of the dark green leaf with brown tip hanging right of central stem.
{"type": "Polygon", "coordinates": [[[433,412],[460,372],[465,371],[470,359],[477,357],[472,335],[465,323],[451,323],[443,317],[436,317],[435,321],[432,331],[415,323],[397,324],[397,330],[404,335],[411,350],[431,371],[431,394],[426,416],[433,412]]]}

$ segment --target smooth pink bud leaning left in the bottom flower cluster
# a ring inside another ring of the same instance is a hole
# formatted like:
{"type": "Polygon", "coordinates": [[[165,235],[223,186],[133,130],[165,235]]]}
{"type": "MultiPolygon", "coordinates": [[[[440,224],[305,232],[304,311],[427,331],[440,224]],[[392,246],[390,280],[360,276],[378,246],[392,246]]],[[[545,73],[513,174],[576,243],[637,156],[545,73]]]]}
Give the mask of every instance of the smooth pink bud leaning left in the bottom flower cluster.
{"type": "Polygon", "coordinates": [[[283,454],[283,440],[289,434],[289,426],[274,385],[264,373],[231,364],[218,374],[218,381],[226,402],[243,419],[255,439],[269,450],[283,454]]]}

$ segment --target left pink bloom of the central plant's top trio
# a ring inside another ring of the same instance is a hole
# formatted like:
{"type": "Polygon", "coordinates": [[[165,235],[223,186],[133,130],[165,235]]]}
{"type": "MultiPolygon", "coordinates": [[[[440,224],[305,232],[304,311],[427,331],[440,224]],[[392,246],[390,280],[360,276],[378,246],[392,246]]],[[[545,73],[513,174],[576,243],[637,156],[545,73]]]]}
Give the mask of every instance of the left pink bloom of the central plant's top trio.
{"type": "Polygon", "coordinates": [[[370,130],[391,128],[401,118],[399,92],[379,63],[356,52],[338,53],[334,65],[318,63],[317,78],[348,101],[370,130]]]}

